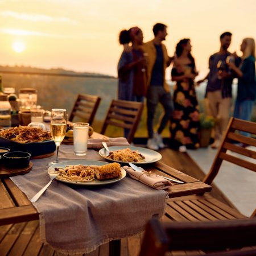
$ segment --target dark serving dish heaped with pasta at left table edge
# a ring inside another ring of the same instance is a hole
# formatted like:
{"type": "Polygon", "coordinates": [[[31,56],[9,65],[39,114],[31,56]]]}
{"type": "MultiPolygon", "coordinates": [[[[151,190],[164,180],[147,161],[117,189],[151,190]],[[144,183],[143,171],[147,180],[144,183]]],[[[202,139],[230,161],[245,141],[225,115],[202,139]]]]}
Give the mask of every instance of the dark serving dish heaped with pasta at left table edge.
{"type": "Polygon", "coordinates": [[[49,131],[39,127],[18,126],[0,130],[0,144],[11,151],[24,151],[31,156],[46,155],[56,146],[49,131]]]}

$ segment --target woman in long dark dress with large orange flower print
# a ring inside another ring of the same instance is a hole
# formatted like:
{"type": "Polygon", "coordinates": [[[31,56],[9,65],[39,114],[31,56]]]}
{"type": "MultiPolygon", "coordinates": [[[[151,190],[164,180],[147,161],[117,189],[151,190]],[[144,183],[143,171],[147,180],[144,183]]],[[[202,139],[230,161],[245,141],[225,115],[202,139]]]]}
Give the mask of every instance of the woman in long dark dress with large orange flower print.
{"type": "Polygon", "coordinates": [[[191,55],[190,39],[182,39],[176,46],[176,59],[172,68],[174,87],[174,112],[171,118],[171,147],[185,152],[199,147],[200,114],[194,79],[195,60],[191,55]]]}

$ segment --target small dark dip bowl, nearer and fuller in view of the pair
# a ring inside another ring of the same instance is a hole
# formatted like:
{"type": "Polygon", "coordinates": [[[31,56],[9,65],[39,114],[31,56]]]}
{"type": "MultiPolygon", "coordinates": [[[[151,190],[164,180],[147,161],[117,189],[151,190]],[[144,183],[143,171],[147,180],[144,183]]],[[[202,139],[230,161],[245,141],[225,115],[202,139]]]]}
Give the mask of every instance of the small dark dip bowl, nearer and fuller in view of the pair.
{"type": "Polygon", "coordinates": [[[25,168],[30,164],[31,154],[23,151],[11,151],[3,154],[3,162],[7,168],[25,168]]]}

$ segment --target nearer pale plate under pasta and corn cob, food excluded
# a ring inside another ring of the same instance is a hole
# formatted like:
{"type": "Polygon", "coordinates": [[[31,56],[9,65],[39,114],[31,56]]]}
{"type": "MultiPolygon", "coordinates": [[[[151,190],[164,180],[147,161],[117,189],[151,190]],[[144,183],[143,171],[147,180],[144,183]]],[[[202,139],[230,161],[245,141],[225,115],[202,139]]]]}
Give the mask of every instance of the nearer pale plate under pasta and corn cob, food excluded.
{"type": "MultiPolygon", "coordinates": [[[[82,164],[83,166],[104,166],[104,164],[108,164],[106,162],[102,161],[96,161],[96,160],[70,160],[70,161],[64,161],[60,162],[57,164],[53,164],[48,168],[48,174],[51,174],[52,172],[55,172],[54,168],[55,167],[65,167],[68,165],[75,166],[77,164],[82,164]]],[[[79,181],[69,181],[69,180],[62,180],[58,177],[56,177],[56,180],[59,180],[64,183],[69,183],[69,184],[76,184],[76,185],[105,185],[105,184],[110,184],[110,183],[115,183],[119,180],[122,180],[126,176],[126,171],[121,168],[121,176],[118,177],[117,179],[111,179],[111,180],[93,180],[93,181],[88,181],[88,182],[79,182],[79,181]]]]}

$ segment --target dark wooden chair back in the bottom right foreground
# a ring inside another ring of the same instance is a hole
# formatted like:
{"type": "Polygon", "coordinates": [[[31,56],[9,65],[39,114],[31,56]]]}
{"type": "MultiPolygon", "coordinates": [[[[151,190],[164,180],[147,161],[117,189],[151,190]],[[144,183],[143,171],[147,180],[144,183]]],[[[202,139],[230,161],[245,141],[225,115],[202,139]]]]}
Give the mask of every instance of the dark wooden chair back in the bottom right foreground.
{"type": "Polygon", "coordinates": [[[155,218],[147,224],[139,256],[164,256],[169,250],[194,253],[203,250],[207,255],[256,255],[256,247],[241,250],[245,246],[256,246],[255,238],[256,218],[168,223],[160,223],[155,218]]]}

